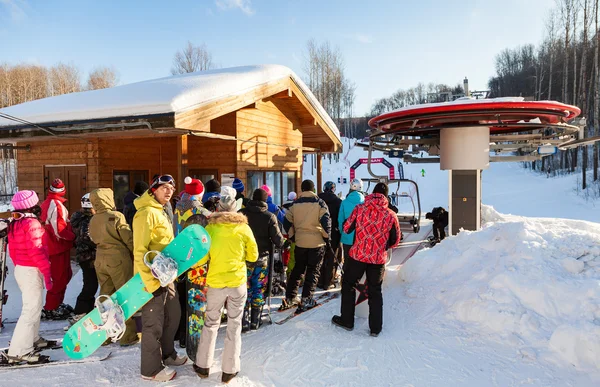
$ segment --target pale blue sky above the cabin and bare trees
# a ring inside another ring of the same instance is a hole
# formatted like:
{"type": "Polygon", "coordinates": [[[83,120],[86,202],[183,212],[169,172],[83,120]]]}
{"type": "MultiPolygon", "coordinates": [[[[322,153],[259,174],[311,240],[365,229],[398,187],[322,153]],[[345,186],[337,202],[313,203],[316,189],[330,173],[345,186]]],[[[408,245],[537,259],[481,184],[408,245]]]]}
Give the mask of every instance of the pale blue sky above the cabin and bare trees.
{"type": "Polygon", "coordinates": [[[355,111],[418,82],[486,88],[494,57],[539,43],[553,0],[0,0],[0,63],[113,66],[120,83],[170,75],[188,40],[220,67],[303,75],[306,42],[339,47],[355,111]]]}

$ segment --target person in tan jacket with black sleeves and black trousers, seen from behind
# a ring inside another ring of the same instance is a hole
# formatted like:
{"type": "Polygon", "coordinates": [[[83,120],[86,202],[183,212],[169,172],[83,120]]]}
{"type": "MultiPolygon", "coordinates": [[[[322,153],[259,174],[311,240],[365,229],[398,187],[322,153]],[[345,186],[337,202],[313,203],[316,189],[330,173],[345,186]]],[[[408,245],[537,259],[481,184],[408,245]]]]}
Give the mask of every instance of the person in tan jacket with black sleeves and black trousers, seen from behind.
{"type": "Polygon", "coordinates": [[[300,312],[315,306],[313,293],[319,281],[319,270],[325,255],[325,246],[330,243],[331,217],[327,204],[319,199],[315,183],[304,180],[302,193],[285,215],[283,226],[296,243],[294,269],[287,284],[282,309],[298,305],[300,312]],[[306,272],[302,299],[298,300],[300,277],[306,272]]]}

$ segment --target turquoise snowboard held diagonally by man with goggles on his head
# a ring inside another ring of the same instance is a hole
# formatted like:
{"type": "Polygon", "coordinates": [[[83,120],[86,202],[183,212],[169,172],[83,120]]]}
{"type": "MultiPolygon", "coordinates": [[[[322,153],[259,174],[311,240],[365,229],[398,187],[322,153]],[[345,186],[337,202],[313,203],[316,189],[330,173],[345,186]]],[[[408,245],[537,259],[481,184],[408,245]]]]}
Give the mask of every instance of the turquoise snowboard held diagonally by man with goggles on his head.
{"type": "MultiPolygon", "coordinates": [[[[164,256],[177,262],[177,275],[183,274],[208,253],[210,236],[204,227],[194,224],[186,227],[162,251],[164,256]]],[[[152,299],[152,293],[146,287],[139,273],[135,274],[125,285],[113,293],[110,298],[122,309],[125,321],[140,310],[152,299]]],[[[63,349],[71,359],[83,359],[96,351],[108,338],[100,311],[94,308],[90,313],[77,321],[65,333],[63,349]]]]}

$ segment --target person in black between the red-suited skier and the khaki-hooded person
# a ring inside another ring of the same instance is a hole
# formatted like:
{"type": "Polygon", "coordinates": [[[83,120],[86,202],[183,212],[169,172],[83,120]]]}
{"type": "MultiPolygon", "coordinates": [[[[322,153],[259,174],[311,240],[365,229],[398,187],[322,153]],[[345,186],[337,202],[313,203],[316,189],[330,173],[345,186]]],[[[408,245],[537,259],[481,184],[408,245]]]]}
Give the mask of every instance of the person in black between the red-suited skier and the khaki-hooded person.
{"type": "Polygon", "coordinates": [[[73,321],[77,321],[94,309],[94,301],[98,291],[98,278],[94,267],[96,244],[90,239],[90,220],[92,216],[94,216],[94,209],[90,201],[90,194],[86,193],[81,198],[81,211],[71,215],[71,225],[75,232],[75,259],[83,274],[83,288],[77,296],[73,321]]]}

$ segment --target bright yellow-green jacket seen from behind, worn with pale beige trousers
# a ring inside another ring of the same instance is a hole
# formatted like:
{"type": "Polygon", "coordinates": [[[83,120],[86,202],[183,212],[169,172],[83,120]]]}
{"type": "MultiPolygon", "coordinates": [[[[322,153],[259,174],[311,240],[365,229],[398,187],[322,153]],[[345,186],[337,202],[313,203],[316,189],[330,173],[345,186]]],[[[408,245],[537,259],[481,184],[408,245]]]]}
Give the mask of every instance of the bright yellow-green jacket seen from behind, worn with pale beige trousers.
{"type": "Polygon", "coordinates": [[[208,219],[206,231],[211,243],[206,283],[211,288],[237,288],[247,281],[246,261],[256,262],[258,246],[248,219],[236,212],[216,212],[208,219]]]}

